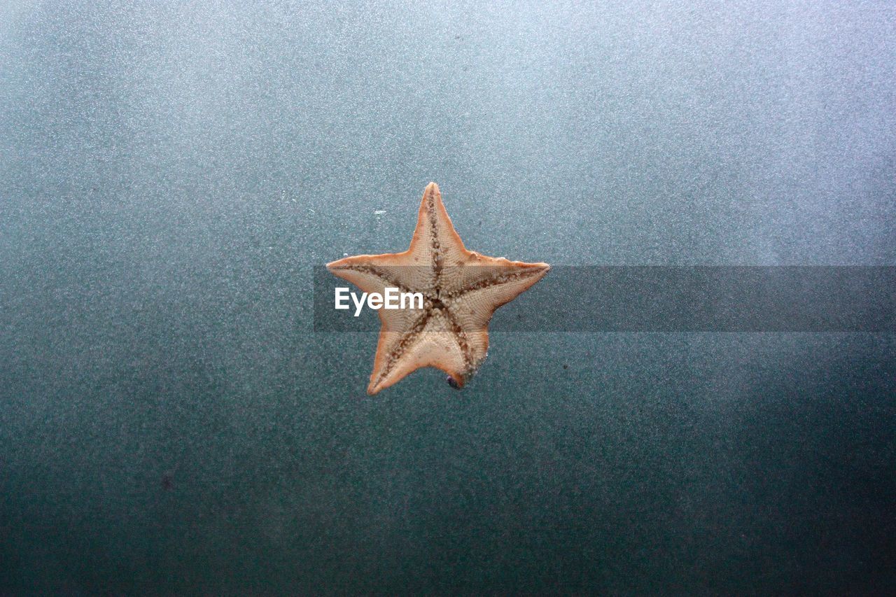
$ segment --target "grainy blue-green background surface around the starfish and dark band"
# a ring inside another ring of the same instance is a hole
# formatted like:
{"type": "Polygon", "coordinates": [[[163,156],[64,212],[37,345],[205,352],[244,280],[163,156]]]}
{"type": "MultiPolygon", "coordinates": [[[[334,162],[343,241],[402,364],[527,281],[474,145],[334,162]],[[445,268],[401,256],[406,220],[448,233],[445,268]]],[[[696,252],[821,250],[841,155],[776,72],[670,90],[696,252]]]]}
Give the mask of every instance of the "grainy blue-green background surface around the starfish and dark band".
{"type": "Polygon", "coordinates": [[[892,335],[369,398],[311,329],[429,180],[487,255],[896,263],[892,3],[235,4],[0,7],[0,593],[896,589],[892,335]]]}

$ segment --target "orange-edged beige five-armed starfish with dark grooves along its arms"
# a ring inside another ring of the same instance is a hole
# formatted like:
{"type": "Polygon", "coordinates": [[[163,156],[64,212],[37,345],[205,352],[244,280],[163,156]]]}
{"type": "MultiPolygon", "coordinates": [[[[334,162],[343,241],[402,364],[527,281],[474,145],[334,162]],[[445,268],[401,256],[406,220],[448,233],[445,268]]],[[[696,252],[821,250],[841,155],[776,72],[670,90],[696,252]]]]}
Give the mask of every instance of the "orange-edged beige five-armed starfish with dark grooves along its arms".
{"type": "Polygon", "coordinates": [[[391,287],[423,296],[423,308],[379,309],[382,327],[367,385],[367,394],[376,394],[424,367],[441,369],[452,387],[463,387],[486,358],[495,309],[550,268],[468,251],[431,182],[407,251],[345,257],[327,269],[364,292],[391,287]]]}

